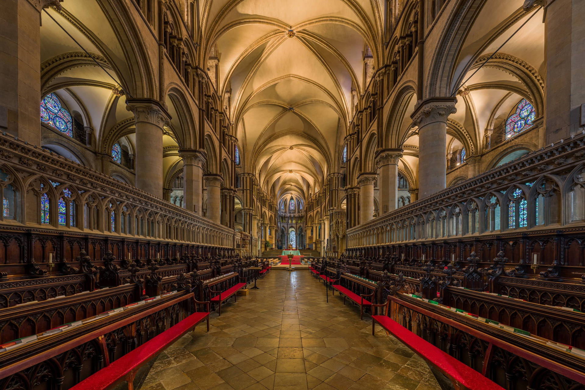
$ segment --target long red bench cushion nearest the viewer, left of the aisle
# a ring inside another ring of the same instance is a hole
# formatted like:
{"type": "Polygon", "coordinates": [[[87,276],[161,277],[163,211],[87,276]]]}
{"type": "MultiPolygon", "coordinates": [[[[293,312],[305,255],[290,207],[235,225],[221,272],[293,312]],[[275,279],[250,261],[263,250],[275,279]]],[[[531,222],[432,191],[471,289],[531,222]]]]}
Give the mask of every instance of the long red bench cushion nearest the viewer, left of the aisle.
{"type": "Polygon", "coordinates": [[[118,360],[113,361],[107,367],[79,382],[70,390],[101,390],[112,386],[135,368],[147,363],[154,356],[161,353],[164,348],[183,337],[192,327],[205,319],[209,313],[194,313],[177,325],[171,326],[158,336],[153,337],[142,346],[135,348],[118,360]]]}

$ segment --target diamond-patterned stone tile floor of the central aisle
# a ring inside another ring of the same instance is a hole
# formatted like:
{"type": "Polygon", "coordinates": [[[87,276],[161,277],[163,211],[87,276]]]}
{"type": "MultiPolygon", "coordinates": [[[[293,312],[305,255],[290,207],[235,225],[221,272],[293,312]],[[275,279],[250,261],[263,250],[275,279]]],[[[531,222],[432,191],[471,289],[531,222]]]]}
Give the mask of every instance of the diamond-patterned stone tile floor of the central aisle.
{"type": "Polygon", "coordinates": [[[143,390],[440,389],[428,366],[308,271],[273,270],[161,354],[143,390]]]}

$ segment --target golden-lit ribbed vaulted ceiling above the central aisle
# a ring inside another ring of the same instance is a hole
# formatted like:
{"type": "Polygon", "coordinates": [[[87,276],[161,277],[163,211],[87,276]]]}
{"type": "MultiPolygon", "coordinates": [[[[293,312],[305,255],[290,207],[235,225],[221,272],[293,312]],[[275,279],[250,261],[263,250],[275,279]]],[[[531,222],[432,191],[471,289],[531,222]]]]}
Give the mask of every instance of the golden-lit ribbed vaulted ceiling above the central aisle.
{"type": "Polygon", "coordinates": [[[335,170],[364,90],[364,55],[377,61],[374,0],[209,0],[202,5],[204,58],[216,58],[216,89],[245,169],[280,198],[306,199],[335,170]],[[355,100],[355,98],[354,98],[355,100]]]}

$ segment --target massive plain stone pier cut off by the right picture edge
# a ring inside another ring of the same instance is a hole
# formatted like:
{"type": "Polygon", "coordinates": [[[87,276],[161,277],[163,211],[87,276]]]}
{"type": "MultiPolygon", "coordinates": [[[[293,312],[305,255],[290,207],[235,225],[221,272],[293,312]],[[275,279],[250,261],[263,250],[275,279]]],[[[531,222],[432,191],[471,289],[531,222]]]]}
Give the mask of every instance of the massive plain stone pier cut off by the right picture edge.
{"type": "Polygon", "coordinates": [[[545,15],[545,126],[546,144],[550,144],[585,125],[581,114],[585,103],[585,2],[547,1],[545,15]]]}

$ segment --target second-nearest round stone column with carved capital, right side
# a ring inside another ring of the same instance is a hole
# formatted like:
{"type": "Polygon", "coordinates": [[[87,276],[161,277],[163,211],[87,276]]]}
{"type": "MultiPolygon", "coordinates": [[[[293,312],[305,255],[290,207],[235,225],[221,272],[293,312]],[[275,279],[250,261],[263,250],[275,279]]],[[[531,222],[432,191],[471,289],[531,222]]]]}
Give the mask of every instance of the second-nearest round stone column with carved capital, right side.
{"type": "Polygon", "coordinates": [[[396,209],[398,204],[398,161],[402,150],[385,149],[378,153],[378,188],[380,188],[380,215],[396,209]]]}

